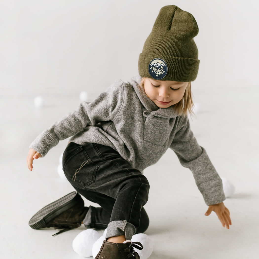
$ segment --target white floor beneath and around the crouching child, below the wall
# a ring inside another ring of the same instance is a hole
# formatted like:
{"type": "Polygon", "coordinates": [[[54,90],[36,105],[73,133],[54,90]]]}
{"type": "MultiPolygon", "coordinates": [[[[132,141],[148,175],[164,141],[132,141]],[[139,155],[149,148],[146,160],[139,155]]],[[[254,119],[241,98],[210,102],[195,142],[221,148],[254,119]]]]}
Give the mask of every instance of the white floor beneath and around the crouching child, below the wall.
{"type": "MultiPolygon", "coordinates": [[[[232,226],[223,228],[207,210],[189,169],[171,151],[144,174],[151,189],[145,208],[150,217],[146,234],[153,240],[150,259],[258,258],[258,88],[200,87],[194,91],[200,106],[191,121],[198,142],[209,154],[220,176],[236,187],[225,201],[232,226]],[[160,179],[159,179],[160,178],[160,179]]],[[[42,92],[46,103],[35,109],[32,92],[1,90],[1,258],[81,258],[72,248],[84,227],[53,237],[54,229],[34,230],[31,216],[41,207],[73,191],[57,174],[61,141],[45,158],[25,163],[28,145],[45,128],[74,109],[79,100],[72,93],[42,92]]],[[[86,205],[91,203],[85,200],[86,205]]]]}

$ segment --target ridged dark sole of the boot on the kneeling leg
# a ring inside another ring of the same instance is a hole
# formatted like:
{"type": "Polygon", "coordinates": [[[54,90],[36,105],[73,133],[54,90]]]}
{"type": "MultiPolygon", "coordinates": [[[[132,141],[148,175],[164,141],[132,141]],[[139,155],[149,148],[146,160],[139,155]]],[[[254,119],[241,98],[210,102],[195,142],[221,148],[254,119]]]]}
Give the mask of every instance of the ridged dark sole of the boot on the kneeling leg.
{"type": "Polygon", "coordinates": [[[29,226],[33,229],[45,228],[49,221],[76,205],[80,200],[81,196],[76,191],[70,192],[39,210],[30,219],[29,226]]]}

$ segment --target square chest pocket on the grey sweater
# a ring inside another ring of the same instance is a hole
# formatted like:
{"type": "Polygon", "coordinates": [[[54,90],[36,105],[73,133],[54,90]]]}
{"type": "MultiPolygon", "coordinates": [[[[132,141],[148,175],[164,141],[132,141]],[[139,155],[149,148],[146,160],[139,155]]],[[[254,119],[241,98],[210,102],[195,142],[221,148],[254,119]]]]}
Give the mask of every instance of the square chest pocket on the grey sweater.
{"type": "Polygon", "coordinates": [[[164,146],[172,130],[170,124],[170,118],[148,115],[144,123],[143,139],[154,145],[164,146]]]}

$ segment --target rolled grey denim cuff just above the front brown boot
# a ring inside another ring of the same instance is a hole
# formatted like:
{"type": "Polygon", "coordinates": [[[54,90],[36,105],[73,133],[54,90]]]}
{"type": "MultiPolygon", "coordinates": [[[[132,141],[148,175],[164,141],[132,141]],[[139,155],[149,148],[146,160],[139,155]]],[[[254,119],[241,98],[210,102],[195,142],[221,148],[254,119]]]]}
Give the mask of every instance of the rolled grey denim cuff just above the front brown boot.
{"type": "Polygon", "coordinates": [[[127,220],[114,220],[108,224],[106,240],[113,236],[125,235],[126,240],[131,240],[136,233],[136,228],[127,220]]]}

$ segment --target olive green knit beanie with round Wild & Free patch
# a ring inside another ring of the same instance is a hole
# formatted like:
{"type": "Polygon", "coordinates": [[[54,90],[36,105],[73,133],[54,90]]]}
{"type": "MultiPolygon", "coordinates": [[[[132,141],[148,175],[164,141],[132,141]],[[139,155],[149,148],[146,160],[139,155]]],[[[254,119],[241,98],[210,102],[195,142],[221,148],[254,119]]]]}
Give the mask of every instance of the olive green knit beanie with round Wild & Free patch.
{"type": "Polygon", "coordinates": [[[175,5],[161,8],[139,55],[139,74],[155,80],[191,82],[198,74],[195,18],[175,5]]]}

